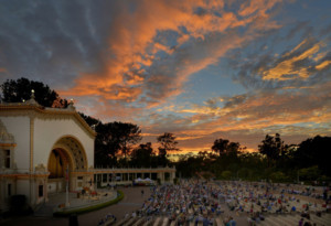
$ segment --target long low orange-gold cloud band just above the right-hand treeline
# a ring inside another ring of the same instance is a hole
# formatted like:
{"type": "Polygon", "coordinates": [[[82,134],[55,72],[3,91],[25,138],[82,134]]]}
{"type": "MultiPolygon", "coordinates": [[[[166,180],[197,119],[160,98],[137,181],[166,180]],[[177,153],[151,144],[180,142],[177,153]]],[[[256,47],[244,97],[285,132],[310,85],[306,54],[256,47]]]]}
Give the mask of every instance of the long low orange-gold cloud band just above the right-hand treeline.
{"type": "Polygon", "coordinates": [[[157,137],[152,134],[169,131],[177,134],[180,148],[185,151],[194,151],[196,147],[209,149],[220,137],[256,150],[266,133],[279,132],[293,143],[316,134],[331,136],[328,126],[331,121],[331,82],[309,89],[313,95],[305,89],[274,89],[212,98],[203,106],[191,105],[190,108],[172,106],[168,110],[173,114],[190,115],[153,114],[148,128],[149,139],[157,137]]]}

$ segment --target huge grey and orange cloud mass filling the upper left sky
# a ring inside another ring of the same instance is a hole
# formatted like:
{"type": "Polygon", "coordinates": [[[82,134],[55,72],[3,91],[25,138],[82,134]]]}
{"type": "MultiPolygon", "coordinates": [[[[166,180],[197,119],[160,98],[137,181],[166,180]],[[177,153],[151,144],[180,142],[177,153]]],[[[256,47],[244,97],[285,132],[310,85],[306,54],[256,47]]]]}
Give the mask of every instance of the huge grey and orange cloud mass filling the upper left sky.
{"type": "Polygon", "coordinates": [[[47,80],[64,97],[151,108],[181,94],[192,74],[254,40],[254,31],[277,26],[268,14],[277,2],[12,1],[0,11],[0,67],[47,80]]]}

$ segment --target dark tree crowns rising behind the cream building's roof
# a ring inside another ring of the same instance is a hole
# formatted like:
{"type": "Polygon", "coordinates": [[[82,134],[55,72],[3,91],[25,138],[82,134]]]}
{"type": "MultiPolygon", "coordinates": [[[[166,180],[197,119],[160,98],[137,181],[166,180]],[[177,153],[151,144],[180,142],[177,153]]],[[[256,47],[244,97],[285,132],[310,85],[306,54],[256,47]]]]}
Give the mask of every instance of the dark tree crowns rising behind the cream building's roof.
{"type": "Polygon", "coordinates": [[[62,99],[55,90],[40,82],[19,78],[8,79],[1,85],[2,101],[22,103],[31,98],[31,90],[35,92],[35,100],[44,107],[67,107],[67,100],[62,99]]]}

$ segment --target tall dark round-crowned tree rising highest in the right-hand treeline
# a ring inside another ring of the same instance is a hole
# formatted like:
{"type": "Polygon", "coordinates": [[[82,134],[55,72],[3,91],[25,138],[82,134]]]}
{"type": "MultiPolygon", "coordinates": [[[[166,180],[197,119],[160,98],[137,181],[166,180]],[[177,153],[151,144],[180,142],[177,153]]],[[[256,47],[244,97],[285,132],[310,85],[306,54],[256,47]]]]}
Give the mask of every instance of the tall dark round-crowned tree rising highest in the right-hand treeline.
{"type": "Polygon", "coordinates": [[[267,157],[268,165],[278,160],[279,154],[285,149],[284,141],[280,139],[280,134],[276,133],[275,137],[266,134],[266,138],[258,146],[259,153],[267,157]]]}

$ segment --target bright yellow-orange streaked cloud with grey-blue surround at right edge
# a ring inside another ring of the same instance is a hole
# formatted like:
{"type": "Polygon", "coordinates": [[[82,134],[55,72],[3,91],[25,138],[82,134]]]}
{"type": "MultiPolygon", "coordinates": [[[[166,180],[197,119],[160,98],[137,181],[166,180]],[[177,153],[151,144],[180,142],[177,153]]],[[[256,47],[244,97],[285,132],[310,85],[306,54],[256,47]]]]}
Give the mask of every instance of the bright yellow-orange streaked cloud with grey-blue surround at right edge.
{"type": "Polygon", "coordinates": [[[330,80],[331,52],[328,37],[309,35],[290,41],[290,45],[286,40],[278,40],[274,44],[264,39],[246,45],[246,49],[254,46],[253,51],[235,50],[227,54],[228,64],[235,71],[233,78],[236,83],[249,90],[270,90],[300,89],[330,80]]]}

